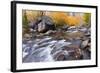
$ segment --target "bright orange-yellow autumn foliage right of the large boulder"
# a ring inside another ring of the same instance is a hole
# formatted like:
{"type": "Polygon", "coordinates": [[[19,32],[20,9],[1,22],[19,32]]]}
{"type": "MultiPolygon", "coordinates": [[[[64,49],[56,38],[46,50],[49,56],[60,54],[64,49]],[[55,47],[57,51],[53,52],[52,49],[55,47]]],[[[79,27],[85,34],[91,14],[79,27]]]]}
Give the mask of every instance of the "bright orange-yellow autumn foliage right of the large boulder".
{"type": "Polygon", "coordinates": [[[65,12],[50,12],[48,15],[53,19],[56,26],[65,24],[69,26],[78,26],[82,22],[82,16],[78,14],[75,16],[70,16],[65,12]]]}

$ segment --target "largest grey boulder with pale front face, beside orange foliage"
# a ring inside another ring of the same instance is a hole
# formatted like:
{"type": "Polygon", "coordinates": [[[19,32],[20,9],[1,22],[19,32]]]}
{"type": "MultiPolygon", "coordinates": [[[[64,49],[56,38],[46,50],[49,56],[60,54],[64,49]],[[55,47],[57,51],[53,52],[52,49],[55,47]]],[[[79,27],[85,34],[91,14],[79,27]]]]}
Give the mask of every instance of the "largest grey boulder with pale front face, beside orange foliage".
{"type": "Polygon", "coordinates": [[[42,16],[39,18],[40,22],[37,24],[38,32],[46,32],[48,30],[54,30],[54,22],[48,16],[42,16]]]}

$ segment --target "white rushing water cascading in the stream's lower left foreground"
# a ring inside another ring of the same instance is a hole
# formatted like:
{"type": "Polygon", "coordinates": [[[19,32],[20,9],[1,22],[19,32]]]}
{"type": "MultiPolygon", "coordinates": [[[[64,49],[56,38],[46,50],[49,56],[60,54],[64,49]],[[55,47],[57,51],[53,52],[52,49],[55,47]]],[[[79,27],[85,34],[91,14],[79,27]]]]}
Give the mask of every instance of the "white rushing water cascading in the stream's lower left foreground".
{"type": "MultiPolygon", "coordinates": [[[[51,37],[33,41],[23,44],[23,62],[54,61],[53,56],[62,51],[63,46],[71,44],[65,40],[52,40],[51,37]]],[[[64,53],[68,55],[68,52],[64,53]]]]}

